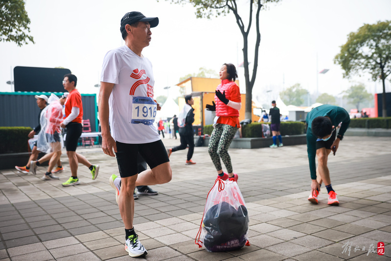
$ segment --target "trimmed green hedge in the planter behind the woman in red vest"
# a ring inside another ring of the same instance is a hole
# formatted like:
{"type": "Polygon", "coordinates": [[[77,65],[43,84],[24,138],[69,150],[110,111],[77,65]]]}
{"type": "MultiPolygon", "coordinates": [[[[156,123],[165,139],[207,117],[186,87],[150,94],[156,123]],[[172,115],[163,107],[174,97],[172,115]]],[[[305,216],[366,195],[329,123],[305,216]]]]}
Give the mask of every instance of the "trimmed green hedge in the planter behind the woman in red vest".
{"type": "MultiPolygon", "coordinates": [[[[263,124],[270,124],[263,123],[263,124]]],[[[300,135],[304,134],[305,124],[300,121],[287,121],[281,122],[280,132],[281,135],[300,135]]],[[[204,126],[204,134],[211,134],[213,131],[212,125],[204,126]]],[[[243,138],[259,138],[262,137],[262,123],[253,122],[247,125],[242,125],[242,137],[243,138]]]]}

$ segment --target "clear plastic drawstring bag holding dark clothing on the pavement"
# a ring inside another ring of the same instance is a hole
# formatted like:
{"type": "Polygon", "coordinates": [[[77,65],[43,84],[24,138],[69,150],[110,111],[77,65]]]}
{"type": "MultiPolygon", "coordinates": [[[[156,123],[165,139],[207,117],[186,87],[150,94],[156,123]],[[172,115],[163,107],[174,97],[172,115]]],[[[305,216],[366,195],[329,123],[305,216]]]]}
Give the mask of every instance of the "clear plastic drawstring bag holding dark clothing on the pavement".
{"type": "Polygon", "coordinates": [[[242,193],[233,179],[216,179],[207,195],[195,243],[209,252],[223,252],[250,245],[249,215],[242,193]]]}

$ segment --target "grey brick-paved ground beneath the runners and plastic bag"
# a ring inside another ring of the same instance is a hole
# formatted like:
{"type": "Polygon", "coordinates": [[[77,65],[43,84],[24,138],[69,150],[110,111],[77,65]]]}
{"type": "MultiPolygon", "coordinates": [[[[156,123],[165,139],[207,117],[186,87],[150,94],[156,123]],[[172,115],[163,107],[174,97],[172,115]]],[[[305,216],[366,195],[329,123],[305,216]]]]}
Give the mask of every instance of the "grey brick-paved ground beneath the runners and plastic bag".
{"type": "MultiPolygon", "coordinates": [[[[163,142],[170,147],[179,140],[163,142]]],[[[0,171],[0,261],[131,259],[123,248],[123,224],[108,184],[118,172],[115,158],[100,148],[78,151],[100,165],[97,180],[79,166],[82,183],[62,187],[70,176],[66,154],[60,181],[42,181],[44,167],[37,176],[0,171]]],[[[173,179],[153,186],[159,195],[136,201],[135,229],[148,250],[146,260],[391,260],[390,138],[346,137],[341,142],[337,155],[329,158],[338,207],[327,206],[324,187],[319,205],[307,201],[305,145],[230,149],[249,209],[251,246],[223,253],[194,244],[216,174],[206,147],[195,148],[194,166],[184,165],[186,152],[171,155],[173,179]],[[368,254],[378,241],[386,243],[386,254],[368,254]],[[350,253],[344,252],[347,242],[350,253]]]]}

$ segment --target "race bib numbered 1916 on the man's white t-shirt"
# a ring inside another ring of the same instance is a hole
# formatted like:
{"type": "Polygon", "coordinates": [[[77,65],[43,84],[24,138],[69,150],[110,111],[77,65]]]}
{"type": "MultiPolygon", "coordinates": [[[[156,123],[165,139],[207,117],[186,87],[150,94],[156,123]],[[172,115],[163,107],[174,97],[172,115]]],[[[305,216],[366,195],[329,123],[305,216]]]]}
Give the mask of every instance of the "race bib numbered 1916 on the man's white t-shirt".
{"type": "Polygon", "coordinates": [[[151,125],[155,121],[157,103],[150,97],[133,97],[131,123],[151,125]]]}

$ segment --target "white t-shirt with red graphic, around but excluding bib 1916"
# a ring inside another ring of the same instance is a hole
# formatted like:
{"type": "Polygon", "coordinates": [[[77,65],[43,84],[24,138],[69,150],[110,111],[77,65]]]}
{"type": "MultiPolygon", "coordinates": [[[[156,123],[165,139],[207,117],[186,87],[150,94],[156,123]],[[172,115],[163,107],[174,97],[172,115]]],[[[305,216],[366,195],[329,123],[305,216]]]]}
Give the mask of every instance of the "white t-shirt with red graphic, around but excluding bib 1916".
{"type": "Polygon", "coordinates": [[[154,126],[131,123],[133,97],[153,98],[155,79],[151,62],[122,46],[106,53],[100,81],[114,83],[109,98],[110,128],[115,141],[149,143],[161,138],[154,126]]]}

